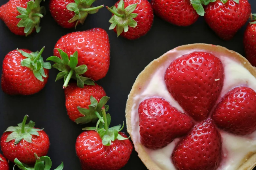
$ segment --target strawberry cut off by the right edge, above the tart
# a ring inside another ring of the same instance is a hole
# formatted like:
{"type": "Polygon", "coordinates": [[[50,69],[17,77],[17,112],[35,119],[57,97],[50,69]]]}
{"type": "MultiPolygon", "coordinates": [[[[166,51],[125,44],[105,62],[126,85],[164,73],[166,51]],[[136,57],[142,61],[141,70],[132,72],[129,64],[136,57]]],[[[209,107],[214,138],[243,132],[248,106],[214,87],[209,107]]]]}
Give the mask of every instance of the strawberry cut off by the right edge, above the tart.
{"type": "Polygon", "coordinates": [[[252,19],[245,30],[244,46],[248,61],[256,66],[256,14],[252,14],[252,19]]]}

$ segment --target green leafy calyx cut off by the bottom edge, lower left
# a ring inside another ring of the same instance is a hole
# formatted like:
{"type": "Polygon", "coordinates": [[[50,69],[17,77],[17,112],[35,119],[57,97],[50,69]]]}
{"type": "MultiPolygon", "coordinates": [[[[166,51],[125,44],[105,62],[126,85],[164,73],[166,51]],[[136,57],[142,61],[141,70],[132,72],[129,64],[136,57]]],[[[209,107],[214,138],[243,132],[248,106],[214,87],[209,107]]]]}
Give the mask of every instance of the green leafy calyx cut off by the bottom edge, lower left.
{"type": "MultiPolygon", "coordinates": [[[[34,167],[29,167],[25,163],[20,162],[17,158],[14,159],[15,165],[13,166],[13,170],[15,170],[15,166],[21,170],[50,170],[52,167],[52,161],[48,156],[38,157],[36,153],[34,153],[36,158],[36,163],[34,167]]],[[[63,162],[61,162],[60,166],[58,166],[55,170],[62,170],[64,167],[63,162]]]]}

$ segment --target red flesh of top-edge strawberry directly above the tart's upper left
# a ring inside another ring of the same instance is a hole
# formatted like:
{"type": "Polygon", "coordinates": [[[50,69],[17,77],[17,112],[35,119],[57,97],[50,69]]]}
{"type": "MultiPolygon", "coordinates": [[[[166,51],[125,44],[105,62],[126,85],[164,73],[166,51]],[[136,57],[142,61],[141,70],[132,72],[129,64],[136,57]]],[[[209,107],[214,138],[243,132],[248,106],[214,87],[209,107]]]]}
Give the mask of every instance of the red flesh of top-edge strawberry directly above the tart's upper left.
{"type": "Polygon", "coordinates": [[[189,26],[199,17],[190,0],[151,0],[157,16],[178,26],[189,26]]]}

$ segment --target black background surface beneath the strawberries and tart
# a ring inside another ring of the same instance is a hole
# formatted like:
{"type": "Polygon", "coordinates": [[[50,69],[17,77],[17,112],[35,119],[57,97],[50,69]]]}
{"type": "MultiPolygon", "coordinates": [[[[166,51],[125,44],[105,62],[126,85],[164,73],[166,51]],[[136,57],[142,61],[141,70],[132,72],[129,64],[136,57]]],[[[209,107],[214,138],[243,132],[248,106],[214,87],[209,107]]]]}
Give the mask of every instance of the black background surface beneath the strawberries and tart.
{"type": "MultiPolygon", "coordinates": [[[[97,0],[94,6],[113,6],[117,0],[97,0]]],[[[0,6],[8,0],[0,0],[0,6]]],[[[252,12],[256,13],[256,1],[249,0],[252,12]]],[[[16,48],[24,48],[32,51],[40,50],[45,46],[43,52],[44,60],[53,55],[53,48],[57,40],[73,29],[61,28],[52,18],[48,11],[48,0],[42,2],[46,7],[47,15],[41,20],[41,32],[34,33],[28,37],[16,36],[11,33],[0,21],[0,62],[5,55],[16,48]]],[[[137,40],[117,38],[112,30],[108,30],[111,13],[106,9],[100,9],[98,13],[89,15],[83,26],[77,26],[76,31],[100,27],[105,29],[110,37],[111,64],[107,76],[97,83],[103,86],[107,95],[111,98],[109,113],[111,114],[111,126],[118,125],[125,120],[125,106],[127,96],[131,90],[137,75],[152,60],[160,57],[163,53],[177,46],[191,43],[209,43],[221,45],[244,55],[243,33],[245,26],[238,31],[231,41],[219,39],[207,26],[203,17],[189,27],[178,27],[161,20],[155,16],[154,23],[149,33],[137,40]]],[[[0,73],[2,64],[0,64],[0,73]]],[[[23,117],[28,114],[29,120],[36,122],[36,127],[45,128],[50,138],[50,149],[48,156],[52,159],[52,169],[56,168],[61,161],[64,170],[80,170],[80,163],[76,156],[75,142],[77,136],[82,132],[82,126],[72,122],[66,113],[65,97],[62,90],[63,81],[55,81],[56,69],[49,72],[49,80],[45,88],[31,96],[9,96],[0,90],[0,134],[7,127],[22,122],[23,117]]],[[[126,128],[123,130],[126,132],[126,128]]],[[[10,167],[12,168],[12,167],[10,167]]],[[[137,153],[133,151],[128,164],[122,170],[146,170],[137,153]]]]}

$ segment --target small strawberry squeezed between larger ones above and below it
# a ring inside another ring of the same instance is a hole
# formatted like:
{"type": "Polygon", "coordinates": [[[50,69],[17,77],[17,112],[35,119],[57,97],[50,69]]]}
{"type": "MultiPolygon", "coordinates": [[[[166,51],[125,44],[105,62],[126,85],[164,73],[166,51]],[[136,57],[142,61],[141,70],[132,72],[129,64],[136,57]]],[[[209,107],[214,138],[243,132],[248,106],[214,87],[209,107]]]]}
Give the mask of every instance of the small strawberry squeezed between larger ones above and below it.
{"type": "Polygon", "coordinates": [[[101,86],[97,84],[94,86],[84,85],[83,88],[80,88],[77,87],[77,84],[70,83],[64,92],[66,98],[66,109],[68,116],[72,121],[76,121],[80,124],[89,123],[90,121],[97,119],[94,109],[90,105],[94,102],[97,105],[100,99],[106,96],[106,92],[101,86]],[[91,96],[95,100],[91,100],[91,96]]]}

